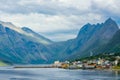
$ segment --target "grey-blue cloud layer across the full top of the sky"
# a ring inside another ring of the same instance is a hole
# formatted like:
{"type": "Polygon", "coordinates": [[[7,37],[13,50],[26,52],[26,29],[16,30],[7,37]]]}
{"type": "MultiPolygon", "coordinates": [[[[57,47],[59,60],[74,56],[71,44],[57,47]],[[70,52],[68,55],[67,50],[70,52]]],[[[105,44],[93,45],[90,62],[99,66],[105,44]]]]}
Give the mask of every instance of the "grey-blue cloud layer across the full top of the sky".
{"type": "Polygon", "coordinates": [[[87,13],[119,14],[119,0],[0,0],[0,11],[12,14],[81,15],[87,13]],[[113,11],[114,10],[114,11],[113,11]]]}

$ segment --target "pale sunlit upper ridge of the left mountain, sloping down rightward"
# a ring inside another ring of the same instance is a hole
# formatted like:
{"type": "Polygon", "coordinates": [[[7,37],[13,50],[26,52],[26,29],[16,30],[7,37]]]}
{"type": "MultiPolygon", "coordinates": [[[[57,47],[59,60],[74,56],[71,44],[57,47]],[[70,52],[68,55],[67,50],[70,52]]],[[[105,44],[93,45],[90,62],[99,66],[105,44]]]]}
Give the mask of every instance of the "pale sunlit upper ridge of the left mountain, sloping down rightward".
{"type": "Polygon", "coordinates": [[[41,36],[40,34],[32,31],[31,29],[29,29],[27,27],[20,28],[20,27],[16,27],[15,25],[13,25],[10,22],[3,22],[3,21],[0,21],[0,24],[2,24],[4,27],[8,27],[22,35],[28,36],[29,38],[33,39],[34,41],[40,42],[42,44],[48,45],[48,44],[53,43],[51,40],[41,36]]]}

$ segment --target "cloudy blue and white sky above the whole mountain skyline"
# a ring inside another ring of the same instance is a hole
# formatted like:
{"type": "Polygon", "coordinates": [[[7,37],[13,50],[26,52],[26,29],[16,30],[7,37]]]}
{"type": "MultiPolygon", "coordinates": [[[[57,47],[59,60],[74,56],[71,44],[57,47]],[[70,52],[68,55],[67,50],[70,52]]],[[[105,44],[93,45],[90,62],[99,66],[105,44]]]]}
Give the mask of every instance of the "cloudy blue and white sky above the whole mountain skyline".
{"type": "Polygon", "coordinates": [[[120,0],[0,0],[0,20],[53,40],[75,38],[87,24],[111,17],[120,25],[120,0]]]}

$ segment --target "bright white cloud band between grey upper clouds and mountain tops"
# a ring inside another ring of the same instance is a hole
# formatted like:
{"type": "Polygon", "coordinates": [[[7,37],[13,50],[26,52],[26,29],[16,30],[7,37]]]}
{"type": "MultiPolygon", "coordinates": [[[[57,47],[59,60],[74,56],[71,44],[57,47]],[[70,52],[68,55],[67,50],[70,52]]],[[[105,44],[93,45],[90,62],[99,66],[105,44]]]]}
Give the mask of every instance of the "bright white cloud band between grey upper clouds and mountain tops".
{"type": "Polygon", "coordinates": [[[88,14],[81,16],[44,15],[44,14],[3,14],[0,17],[3,21],[11,21],[17,26],[27,26],[37,32],[59,32],[65,30],[79,30],[82,24],[88,22],[100,22],[101,16],[88,14]],[[94,17],[94,19],[92,18],[94,17]],[[88,20],[86,21],[86,18],[88,20]],[[97,20],[97,21],[96,21],[97,20]]]}

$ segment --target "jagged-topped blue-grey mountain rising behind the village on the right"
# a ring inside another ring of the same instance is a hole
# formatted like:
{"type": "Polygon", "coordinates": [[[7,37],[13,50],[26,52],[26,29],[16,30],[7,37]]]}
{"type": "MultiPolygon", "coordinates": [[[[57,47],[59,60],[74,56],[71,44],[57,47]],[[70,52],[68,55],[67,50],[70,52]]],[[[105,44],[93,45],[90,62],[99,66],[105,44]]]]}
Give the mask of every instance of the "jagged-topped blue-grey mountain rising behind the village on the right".
{"type": "Polygon", "coordinates": [[[78,36],[63,51],[63,54],[67,54],[67,57],[64,58],[73,59],[90,56],[90,53],[98,54],[94,50],[107,44],[118,30],[116,22],[111,18],[101,24],[92,25],[88,23],[84,25],[80,29],[78,36]]]}

